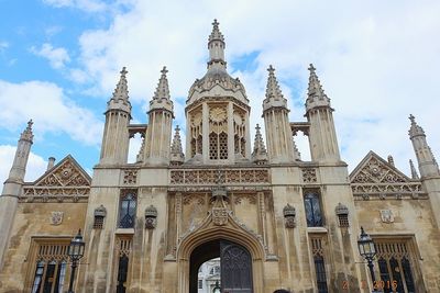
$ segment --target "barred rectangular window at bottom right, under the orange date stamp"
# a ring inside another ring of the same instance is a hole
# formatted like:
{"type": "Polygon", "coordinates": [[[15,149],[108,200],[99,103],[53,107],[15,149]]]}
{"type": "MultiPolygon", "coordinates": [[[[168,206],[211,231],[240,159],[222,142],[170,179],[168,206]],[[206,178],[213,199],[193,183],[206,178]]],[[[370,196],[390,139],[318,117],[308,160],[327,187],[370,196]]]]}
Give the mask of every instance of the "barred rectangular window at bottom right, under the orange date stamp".
{"type": "Polygon", "coordinates": [[[415,268],[408,241],[374,239],[381,281],[376,286],[383,292],[416,292],[415,268]]]}

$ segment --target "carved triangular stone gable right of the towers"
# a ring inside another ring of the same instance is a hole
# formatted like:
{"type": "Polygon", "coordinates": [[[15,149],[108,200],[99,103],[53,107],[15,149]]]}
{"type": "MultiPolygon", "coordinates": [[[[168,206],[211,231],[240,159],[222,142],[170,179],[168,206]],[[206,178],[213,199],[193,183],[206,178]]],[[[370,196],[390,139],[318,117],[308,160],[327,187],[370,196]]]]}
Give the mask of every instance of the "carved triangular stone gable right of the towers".
{"type": "Polygon", "coordinates": [[[370,151],[350,174],[351,183],[403,183],[411,181],[389,162],[370,151]]]}

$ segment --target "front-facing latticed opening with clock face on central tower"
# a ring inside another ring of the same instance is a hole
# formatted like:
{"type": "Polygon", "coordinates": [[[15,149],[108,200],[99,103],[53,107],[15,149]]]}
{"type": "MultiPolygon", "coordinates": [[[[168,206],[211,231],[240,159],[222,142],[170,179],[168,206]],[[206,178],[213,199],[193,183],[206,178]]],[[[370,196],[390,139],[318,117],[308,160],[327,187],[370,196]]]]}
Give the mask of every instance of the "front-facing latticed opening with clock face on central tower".
{"type": "Polygon", "coordinates": [[[228,114],[224,105],[209,111],[209,159],[228,159],[228,114]]]}

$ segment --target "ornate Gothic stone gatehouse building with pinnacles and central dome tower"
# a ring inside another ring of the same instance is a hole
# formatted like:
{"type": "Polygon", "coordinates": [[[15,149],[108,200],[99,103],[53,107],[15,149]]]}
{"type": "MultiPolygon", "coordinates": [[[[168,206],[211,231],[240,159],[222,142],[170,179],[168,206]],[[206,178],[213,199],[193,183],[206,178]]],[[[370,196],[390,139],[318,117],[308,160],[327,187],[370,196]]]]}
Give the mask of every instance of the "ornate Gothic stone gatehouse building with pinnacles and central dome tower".
{"type": "Polygon", "coordinates": [[[215,21],[207,72],[186,101],[185,154],[179,127],[172,129],[165,68],[147,124],[130,123],[122,69],[91,177],[68,156],[56,165],[51,158],[44,174],[23,182],[29,123],[0,196],[1,292],[66,292],[67,247],[79,228],[86,248],[75,292],[196,293],[200,266],[216,258],[222,292],[371,292],[381,284],[385,292],[439,292],[440,173],[415,117],[411,177],[373,151],[349,174],[315,67],[300,122],[289,121],[268,67],[266,97],[254,109],[264,117],[263,139],[224,48],[215,21]],[[309,138],[311,161],[299,156],[298,132],[309,138]],[[138,133],[138,161],[128,164],[138,133]],[[372,284],[359,253],[361,226],[375,243],[382,283],[372,284]]]}

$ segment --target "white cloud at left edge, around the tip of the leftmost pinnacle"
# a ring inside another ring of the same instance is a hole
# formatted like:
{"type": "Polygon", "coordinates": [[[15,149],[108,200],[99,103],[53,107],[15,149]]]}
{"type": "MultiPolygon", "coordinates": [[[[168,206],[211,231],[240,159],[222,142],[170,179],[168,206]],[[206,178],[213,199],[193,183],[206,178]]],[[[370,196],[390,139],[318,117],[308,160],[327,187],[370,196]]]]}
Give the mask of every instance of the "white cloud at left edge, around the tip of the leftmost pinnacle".
{"type": "Polygon", "coordinates": [[[16,128],[33,119],[36,136],[64,132],[86,145],[96,146],[101,140],[102,122],[54,83],[0,80],[0,127],[16,128]]]}

